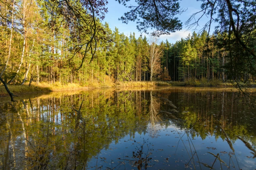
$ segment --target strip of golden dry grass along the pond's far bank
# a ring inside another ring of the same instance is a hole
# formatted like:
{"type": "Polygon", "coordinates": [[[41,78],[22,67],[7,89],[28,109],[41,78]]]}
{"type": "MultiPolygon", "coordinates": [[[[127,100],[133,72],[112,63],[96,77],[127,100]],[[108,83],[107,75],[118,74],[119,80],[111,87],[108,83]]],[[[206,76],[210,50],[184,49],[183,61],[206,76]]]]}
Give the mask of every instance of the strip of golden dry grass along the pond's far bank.
{"type": "MultiPolygon", "coordinates": [[[[46,82],[41,82],[38,85],[32,83],[31,86],[28,86],[28,83],[24,85],[10,85],[9,90],[14,94],[26,94],[33,92],[53,92],[53,91],[64,91],[64,90],[84,90],[84,89],[94,89],[94,88],[130,88],[130,87],[170,87],[170,86],[187,86],[187,87],[232,87],[232,83],[225,82],[215,79],[210,80],[200,79],[195,80],[191,79],[190,81],[178,82],[178,81],[131,81],[131,82],[119,82],[113,83],[110,78],[105,78],[104,82],[87,82],[84,84],[77,83],[59,83],[49,84],[46,82]]],[[[8,96],[4,86],[0,86],[0,96],[8,96]]]]}

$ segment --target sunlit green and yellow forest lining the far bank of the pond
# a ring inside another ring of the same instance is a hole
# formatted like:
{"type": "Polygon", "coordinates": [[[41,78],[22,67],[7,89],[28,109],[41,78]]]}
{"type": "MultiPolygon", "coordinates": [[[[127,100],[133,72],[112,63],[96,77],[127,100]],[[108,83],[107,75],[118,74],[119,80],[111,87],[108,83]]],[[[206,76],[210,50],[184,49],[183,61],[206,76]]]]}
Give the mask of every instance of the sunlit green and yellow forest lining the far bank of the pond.
{"type": "MultiPolygon", "coordinates": [[[[60,17],[53,20],[44,2],[1,1],[0,7],[0,77],[9,85],[255,80],[254,63],[244,64],[241,57],[235,59],[235,65],[241,64],[243,69],[238,70],[239,74],[232,72],[236,69],[230,68],[234,61],[229,56],[227,32],[209,35],[207,30],[194,31],[171,44],[167,39],[159,42],[157,36],[124,35],[118,28],[111,30],[108,23],[97,19],[98,31],[95,44],[91,45],[95,50],[91,48],[88,52],[83,45],[90,34],[83,29],[72,29],[60,17]]],[[[255,38],[249,41],[253,43],[255,38]]],[[[232,48],[235,53],[235,45],[232,48]]]]}

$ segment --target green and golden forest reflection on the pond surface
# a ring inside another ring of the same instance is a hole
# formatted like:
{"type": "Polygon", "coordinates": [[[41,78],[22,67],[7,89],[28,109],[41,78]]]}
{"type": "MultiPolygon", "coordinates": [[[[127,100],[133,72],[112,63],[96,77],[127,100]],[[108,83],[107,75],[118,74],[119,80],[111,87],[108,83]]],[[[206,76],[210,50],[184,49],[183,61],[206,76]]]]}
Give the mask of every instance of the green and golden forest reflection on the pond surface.
{"type": "MultiPolygon", "coordinates": [[[[232,143],[238,135],[255,148],[255,109],[240,96],[223,90],[161,88],[37,94],[14,103],[0,101],[0,166],[90,169],[88,163],[93,162],[93,168],[100,169],[98,160],[108,162],[100,153],[111,151],[110,146],[118,146],[126,136],[137,140],[148,135],[151,142],[173,126],[179,132],[186,130],[191,140],[213,136],[216,141],[225,139],[223,127],[232,143]],[[80,115],[73,109],[79,106],[80,115]]],[[[162,138],[156,140],[164,142],[162,138]]],[[[129,151],[124,160],[132,157],[129,151]]],[[[111,160],[117,157],[111,155],[111,160]]]]}

